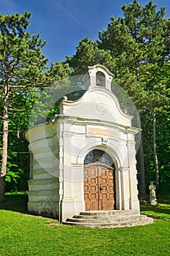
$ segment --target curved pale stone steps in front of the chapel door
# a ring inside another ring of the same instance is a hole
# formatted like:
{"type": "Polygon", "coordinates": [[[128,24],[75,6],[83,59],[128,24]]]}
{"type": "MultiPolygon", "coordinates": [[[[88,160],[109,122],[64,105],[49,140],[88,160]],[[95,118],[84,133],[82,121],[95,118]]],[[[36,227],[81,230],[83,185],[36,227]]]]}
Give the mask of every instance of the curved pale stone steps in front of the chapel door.
{"type": "Polygon", "coordinates": [[[153,219],[136,211],[83,211],[79,215],[66,219],[65,225],[85,227],[134,227],[152,224],[153,219]]]}

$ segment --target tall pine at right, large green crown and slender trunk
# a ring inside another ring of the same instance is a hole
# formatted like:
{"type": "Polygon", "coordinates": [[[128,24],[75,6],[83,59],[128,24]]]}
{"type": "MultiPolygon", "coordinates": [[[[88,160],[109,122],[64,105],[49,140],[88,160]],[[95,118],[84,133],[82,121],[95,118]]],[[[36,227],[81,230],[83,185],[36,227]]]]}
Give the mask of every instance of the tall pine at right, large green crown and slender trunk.
{"type": "Polygon", "coordinates": [[[158,186],[155,117],[169,102],[168,78],[162,74],[169,58],[170,20],[164,18],[165,9],[157,12],[152,1],[142,6],[134,0],[128,6],[124,4],[122,10],[124,18],[112,17],[108,28],[99,32],[100,48],[110,50],[116,60],[112,72],[117,83],[134,99],[139,113],[144,113],[144,109],[150,112],[158,186]]]}

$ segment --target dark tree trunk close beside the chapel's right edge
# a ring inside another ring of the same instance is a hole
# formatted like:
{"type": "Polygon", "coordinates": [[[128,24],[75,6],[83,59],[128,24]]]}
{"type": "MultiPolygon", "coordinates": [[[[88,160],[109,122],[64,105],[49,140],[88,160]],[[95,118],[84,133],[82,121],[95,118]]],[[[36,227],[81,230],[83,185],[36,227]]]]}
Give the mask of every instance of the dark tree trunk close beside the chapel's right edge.
{"type": "Polygon", "coordinates": [[[144,176],[144,150],[143,150],[143,141],[141,138],[139,146],[139,194],[141,197],[145,195],[145,176],[144,176]]]}

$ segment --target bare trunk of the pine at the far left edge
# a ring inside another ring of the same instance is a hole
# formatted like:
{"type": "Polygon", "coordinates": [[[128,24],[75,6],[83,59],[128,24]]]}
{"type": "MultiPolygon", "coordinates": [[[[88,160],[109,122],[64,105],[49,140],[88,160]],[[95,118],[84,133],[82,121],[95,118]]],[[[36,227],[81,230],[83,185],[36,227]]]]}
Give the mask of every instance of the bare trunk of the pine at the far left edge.
{"type": "Polygon", "coordinates": [[[7,174],[7,148],[8,148],[8,84],[5,86],[4,94],[4,116],[3,116],[3,136],[2,136],[2,160],[0,173],[0,200],[4,200],[5,176],[7,174]]]}

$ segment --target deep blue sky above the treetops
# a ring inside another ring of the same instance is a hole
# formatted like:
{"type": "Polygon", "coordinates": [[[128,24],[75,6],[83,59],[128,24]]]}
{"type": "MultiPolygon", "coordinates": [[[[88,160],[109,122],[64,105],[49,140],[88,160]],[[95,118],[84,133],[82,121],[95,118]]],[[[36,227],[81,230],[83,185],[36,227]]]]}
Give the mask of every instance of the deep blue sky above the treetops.
{"type": "MultiPolygon", "coordinates": [[[[32,13],[31,34],[40,33],[47,41],[43,53],[50,62],[62,61],[66,55],[72,56],[76,46],[85,36],[98,39],[98,31],[107,29],[107,23],[113,15],[122,16],[121,6],[133,0],[0,0],[2,14],[32,13]]],[[[147,4],[149,0],[139,0],[147,4]]],[[[166,7],[166,18],[170,17],[169,0],[154,0],[166,7]]]]}

